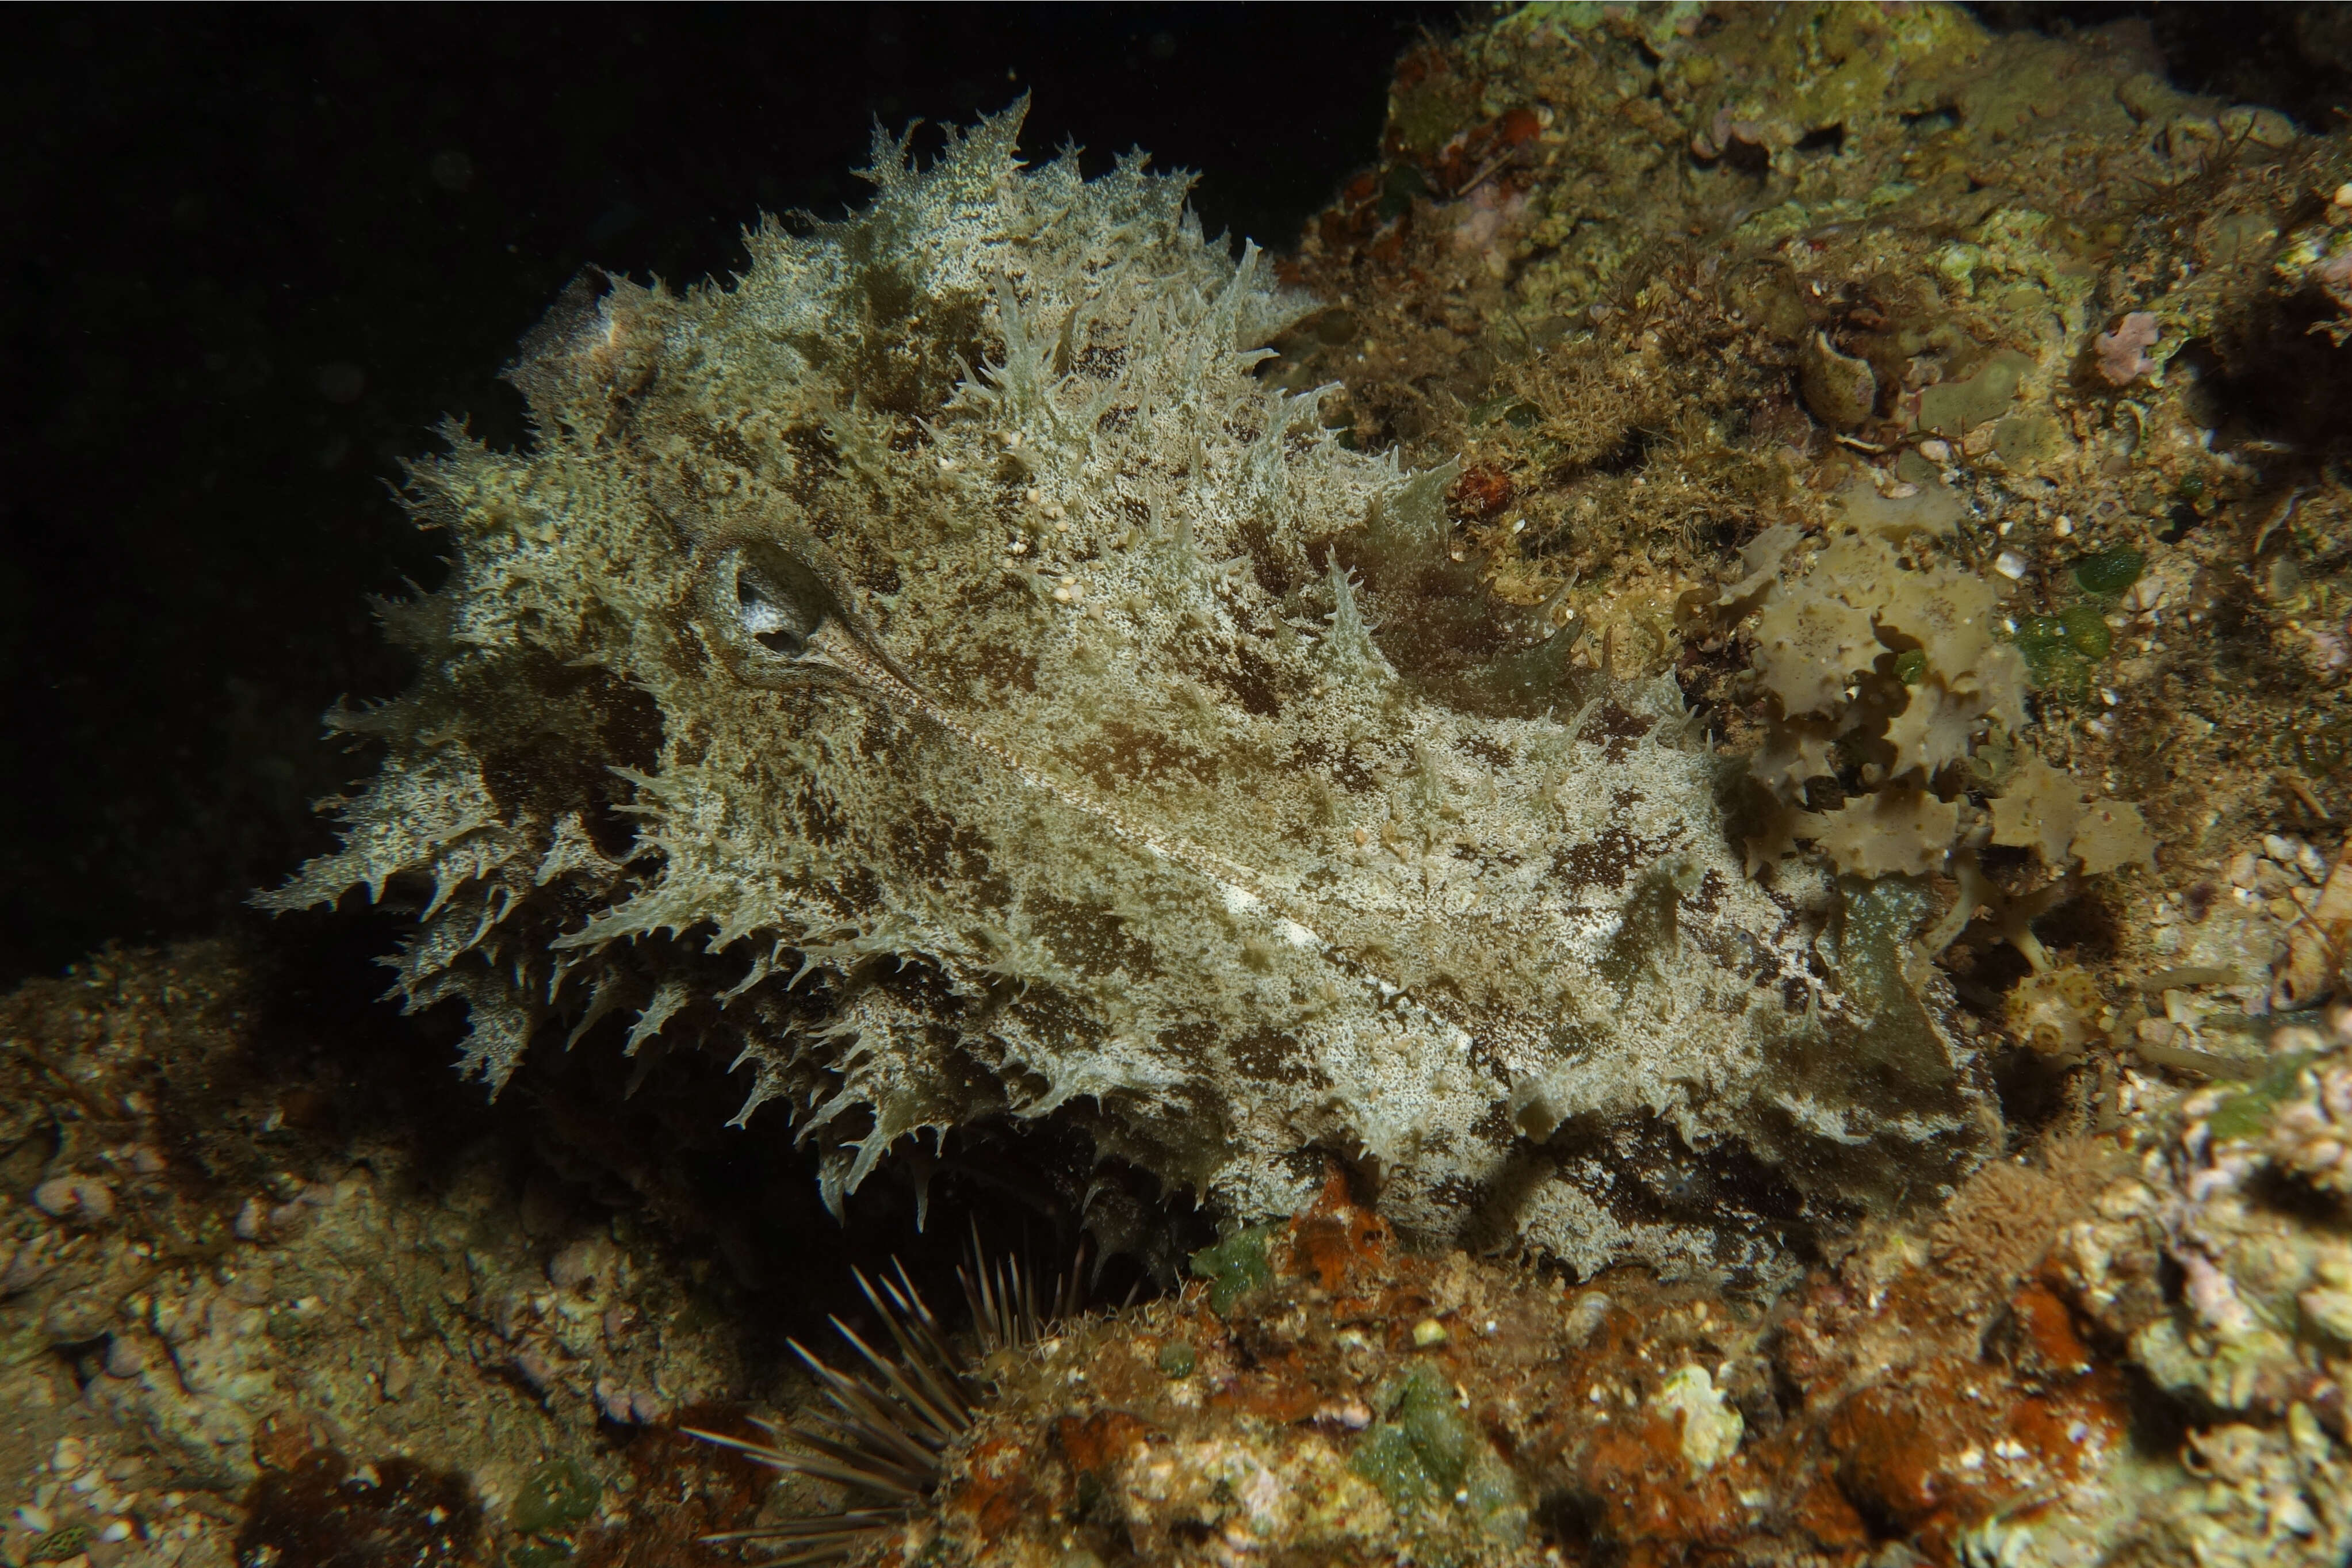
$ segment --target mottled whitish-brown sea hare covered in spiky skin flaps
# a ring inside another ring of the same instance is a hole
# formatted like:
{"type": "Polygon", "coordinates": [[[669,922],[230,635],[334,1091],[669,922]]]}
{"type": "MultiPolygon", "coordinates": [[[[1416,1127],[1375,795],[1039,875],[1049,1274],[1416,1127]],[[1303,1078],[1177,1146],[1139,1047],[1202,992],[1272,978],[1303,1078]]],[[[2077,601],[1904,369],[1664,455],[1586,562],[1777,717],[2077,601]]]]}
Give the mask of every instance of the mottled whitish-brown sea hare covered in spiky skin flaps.
{"type": "Polygon", "coordinates": [[[727,1053],[833,1204],[1051,1117],[1242,1220],[1336,1159],[1425,1237],[1776,1276],[1955,1180],[1924,900],[1745,877],[1672,684],[1573,675],[1451,465],[1256,374],[1312,301],[1018,120],[877,136],[731,287],[562,296],[529,451],[412,473],[421,675],[332,715],[381,771],[261,903],[414,889],[397,990],[492,1086],[600,1020],[727,1053]]]}

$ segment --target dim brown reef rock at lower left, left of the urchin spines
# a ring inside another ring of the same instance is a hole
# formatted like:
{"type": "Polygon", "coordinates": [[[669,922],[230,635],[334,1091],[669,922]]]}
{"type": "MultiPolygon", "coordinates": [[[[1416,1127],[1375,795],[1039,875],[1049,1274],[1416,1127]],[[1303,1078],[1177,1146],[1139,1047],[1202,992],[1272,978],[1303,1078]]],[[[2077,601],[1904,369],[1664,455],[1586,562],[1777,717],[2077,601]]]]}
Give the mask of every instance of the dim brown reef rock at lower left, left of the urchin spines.
{"type": "Polygon", "coordinates": [[[691,1218],[590,1197],[637,1140],[513,1138],[287,990],[207,940],[0,994],[0,1563],[586,1563],[755,1507],[644,1425],[755,1363],[691,1218]]]}

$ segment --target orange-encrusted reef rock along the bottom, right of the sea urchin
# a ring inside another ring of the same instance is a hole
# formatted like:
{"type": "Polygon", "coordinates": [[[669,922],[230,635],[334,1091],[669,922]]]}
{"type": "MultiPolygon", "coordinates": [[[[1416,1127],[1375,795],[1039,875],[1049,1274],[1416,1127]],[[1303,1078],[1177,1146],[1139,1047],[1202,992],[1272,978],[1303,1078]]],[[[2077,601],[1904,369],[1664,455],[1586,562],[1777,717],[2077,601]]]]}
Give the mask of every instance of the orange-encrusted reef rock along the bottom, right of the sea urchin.
{"type": "Polygon", "coordinates": [[[1414,1255],[1334,1182],[1063,1324],[863,1561],[2343,1563],[2352,1011],[2272,1051],[1769,1312],[1414,1255]]]}

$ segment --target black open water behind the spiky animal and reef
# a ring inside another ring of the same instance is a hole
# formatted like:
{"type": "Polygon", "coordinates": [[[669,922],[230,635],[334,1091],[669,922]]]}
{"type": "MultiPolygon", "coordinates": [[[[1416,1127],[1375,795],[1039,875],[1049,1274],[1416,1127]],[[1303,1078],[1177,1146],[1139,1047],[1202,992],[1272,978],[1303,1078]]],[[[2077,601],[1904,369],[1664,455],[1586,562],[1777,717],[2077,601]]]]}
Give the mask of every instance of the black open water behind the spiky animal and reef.
{"type": "MultiPolygon", "coordinates": [[[[1994,26],[2147,7],[1987,5],[1994,26]]],[[[2326,7],[2157,7],[2185,85],[2333,129],[2326,7]],[[2300,19],[2300,21],[2298,21],[2300,19]],[[2326,28],[2321,28],[2326,33],[2326,28]]],[[[365,595],[437,578],[388,496],[588,261],[687,282],[858,200],[875,118],[1035,92],[1025,146],[1204,174],[1287,244],[1451,5],[82,7],[0,49],[0,985],[214,931],[332,837],[365,595]]]]}

